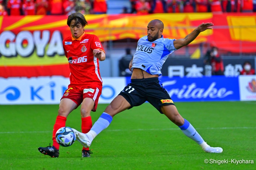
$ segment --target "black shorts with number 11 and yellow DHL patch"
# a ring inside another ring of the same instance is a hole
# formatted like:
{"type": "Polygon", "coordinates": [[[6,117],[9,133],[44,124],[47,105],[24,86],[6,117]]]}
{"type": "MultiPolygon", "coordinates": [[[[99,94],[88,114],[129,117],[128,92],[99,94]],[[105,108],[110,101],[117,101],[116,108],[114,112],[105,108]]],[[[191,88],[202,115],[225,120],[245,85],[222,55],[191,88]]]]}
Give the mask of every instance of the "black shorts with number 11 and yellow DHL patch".
{"type": "Polygon", "coordinates": [[[158,77],[131,79],[131,82],[119,95],[123,96],[131,104],[129,109],[134,106],[140,106],[148,101],[163,114],[161,106],[174,105],[170,95],[163,88],[162,82],[158,77]]]}

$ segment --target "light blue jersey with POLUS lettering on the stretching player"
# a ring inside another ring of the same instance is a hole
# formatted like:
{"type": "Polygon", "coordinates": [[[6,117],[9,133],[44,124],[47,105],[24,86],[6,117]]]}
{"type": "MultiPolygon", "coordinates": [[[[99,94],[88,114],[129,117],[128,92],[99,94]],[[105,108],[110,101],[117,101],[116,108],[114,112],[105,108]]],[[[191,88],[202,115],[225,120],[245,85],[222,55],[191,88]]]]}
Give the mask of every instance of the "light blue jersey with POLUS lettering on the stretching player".
{"type": "Polygon", "coordinates": [[[161,68],[174,50],[173,41],[175,39],[165,39],[163,35],[153,42],[148,41],[148,36],[139,39],[136,52],[133,55],[132,68],[140,68],[149,74],[162,75],[161,68]]]}

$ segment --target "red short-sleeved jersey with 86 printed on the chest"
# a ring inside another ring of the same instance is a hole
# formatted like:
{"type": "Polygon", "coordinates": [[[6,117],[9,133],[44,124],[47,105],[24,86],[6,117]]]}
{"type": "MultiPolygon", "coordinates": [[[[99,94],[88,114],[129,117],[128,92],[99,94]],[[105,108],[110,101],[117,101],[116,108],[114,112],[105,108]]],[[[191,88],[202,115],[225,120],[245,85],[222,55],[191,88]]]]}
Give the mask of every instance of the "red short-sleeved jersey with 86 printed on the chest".
{"type": "Polygon", "coordinates": [[[104,49],[96,35],[83,33],[78,39],[70,36],[63,40],[63,48],[70,69],[69,86],[102,86],[99,59],[92,51],[104,49]]]}

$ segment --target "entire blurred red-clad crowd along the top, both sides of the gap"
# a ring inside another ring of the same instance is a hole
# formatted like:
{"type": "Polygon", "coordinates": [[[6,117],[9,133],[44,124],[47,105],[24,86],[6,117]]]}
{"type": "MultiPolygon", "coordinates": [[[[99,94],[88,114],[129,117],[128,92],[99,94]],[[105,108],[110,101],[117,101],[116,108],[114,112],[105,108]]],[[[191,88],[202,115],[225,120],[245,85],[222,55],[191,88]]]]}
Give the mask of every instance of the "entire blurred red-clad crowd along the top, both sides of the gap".
{"type": "MultiPolygon", "coordinates": [[[[0,15],[105,14],[107,0],[0,0],[0,15]]],[[[110,1],[110,0],[109,0],[110,1]]],[[[130,0],[122,13],[255,12],[256,0],[130,0]]]]}

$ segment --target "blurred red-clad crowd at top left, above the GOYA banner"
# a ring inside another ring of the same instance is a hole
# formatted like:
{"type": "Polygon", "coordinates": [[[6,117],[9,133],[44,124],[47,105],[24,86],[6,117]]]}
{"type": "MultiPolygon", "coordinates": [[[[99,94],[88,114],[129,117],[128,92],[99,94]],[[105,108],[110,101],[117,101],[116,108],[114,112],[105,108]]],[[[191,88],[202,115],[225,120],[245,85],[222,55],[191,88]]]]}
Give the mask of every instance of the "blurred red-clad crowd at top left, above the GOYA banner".
{"type": "Polygon", "coordinates": [[[0,0],[0,15],[70,15],[107,13],[106,0],[0,0]]]}

